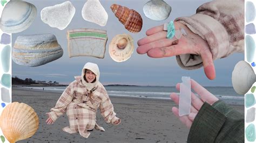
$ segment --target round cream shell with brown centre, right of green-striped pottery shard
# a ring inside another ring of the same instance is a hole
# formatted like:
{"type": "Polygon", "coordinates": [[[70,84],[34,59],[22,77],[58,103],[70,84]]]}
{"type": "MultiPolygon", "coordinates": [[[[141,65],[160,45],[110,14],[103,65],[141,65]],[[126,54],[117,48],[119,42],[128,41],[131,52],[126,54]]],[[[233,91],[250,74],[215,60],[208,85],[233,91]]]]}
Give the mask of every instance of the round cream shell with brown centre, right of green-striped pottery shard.
{"type": "Polygon", "coordinates": [[[109,54],[116,62],[128,60],[133,50],[133,39],[129,34],[116,35],[109,45],[109,54]]]}

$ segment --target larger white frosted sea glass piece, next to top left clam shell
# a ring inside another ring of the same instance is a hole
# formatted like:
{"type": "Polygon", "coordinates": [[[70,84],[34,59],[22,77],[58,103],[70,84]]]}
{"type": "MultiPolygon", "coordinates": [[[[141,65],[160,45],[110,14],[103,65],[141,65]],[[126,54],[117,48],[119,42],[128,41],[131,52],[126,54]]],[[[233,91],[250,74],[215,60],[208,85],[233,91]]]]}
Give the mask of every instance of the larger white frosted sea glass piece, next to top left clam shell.
{"type": "Polygon", "coordinates": [[[41,19],[51,27],[64,30],[71,22],[75,12],[75,7],[70,1],[67,1],[42,9],[41,19]]]}

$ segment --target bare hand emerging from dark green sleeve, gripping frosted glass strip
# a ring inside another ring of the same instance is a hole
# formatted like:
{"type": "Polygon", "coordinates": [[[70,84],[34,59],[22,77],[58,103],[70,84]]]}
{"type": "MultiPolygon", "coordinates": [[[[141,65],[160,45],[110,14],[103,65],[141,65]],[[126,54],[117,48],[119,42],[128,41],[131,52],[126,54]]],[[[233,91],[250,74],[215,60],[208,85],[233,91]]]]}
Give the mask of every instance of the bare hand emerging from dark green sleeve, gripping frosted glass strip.
{"type": "MultiPolygon", "coordinates": [[[[188,128],[191,127],[194,118],[197,116],[198,111],[200,110],[201,106],[204,104],[204,102],[207,102],[208,104],[212,105],[213,103],[217,102],[219,99],[215,97],[211,92],[207,91],[204,87],[202,87],[200,84],[198,84],[196,81],[191,80],[191,88],[197,92],[197,94],[200,96],[197,97],[196,95],[191,92],[191,113],[190,115],[181,116],[179,117],[179,109],[176,107],[172,108],[172,112],[175,116],[179,118],[179,120],[185,124],[188,128]]],[[[180,91],[180,83],[176,85],[176,89],[180,91]]],[[[179,105],[179,96],[176,93],[172,93],[170,95],[172,100],[179,105]]]]}

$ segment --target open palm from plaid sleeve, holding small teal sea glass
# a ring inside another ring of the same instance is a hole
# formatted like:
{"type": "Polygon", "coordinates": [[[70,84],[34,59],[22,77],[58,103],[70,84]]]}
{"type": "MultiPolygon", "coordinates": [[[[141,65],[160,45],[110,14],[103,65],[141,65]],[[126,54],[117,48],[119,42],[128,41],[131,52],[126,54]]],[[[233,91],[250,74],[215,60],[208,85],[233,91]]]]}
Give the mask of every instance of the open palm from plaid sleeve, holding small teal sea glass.
{"type": "Polygon", "coordinates": [[[205,75],[213,80],[215,78],[215,68],[212,60],[212,53],[207,42],[198,34],[193,33],[186,25],[174,22],[176,30],[183,28],[187,35],[177,41],[167,39],[167,31],[164,25],[150,28],[146,31],[147,37],[138,40],[138,54],[147,53],[151,58],[163,58],[181,54],[200,55],[203,60],[205,75]]]}

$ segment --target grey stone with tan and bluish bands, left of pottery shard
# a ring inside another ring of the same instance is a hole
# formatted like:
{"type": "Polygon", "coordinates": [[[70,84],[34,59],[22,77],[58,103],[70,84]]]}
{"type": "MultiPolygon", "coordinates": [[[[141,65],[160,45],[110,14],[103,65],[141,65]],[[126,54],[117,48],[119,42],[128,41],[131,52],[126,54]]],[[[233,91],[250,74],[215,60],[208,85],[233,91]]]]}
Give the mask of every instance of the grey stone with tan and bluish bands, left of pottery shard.
{"type": "Polygon", "coordinates": [[[12,48],[12,60],[30,67],[44,65],[62,55],[63,49],[53,34],[21,35],[12,48]]]}

